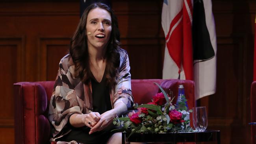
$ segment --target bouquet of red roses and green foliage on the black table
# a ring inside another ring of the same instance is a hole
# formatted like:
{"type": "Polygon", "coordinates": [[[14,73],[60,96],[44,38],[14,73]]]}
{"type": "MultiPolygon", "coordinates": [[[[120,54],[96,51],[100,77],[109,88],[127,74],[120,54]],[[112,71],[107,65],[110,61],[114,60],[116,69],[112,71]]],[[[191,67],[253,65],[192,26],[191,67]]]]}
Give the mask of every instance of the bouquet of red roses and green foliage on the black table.
{"type": "MultiPolygon", "coordinates": [[[[155,83],[158,85],[157,83],[155,83]]],[[[173,99],[170,100],[167,93],[158,85],[161,93],[153,96],[152,102],[134,107],[137,112],[133,111],[128,117],[115,118],[113,124],[120,127],[115,129],[125,131],[130,134],[134,133],[173,133],[173,132],[192,132],[189,126],[189,113],[187,110],[186,98],[182,98],[177,105],[173,105],[173,99]]]]}

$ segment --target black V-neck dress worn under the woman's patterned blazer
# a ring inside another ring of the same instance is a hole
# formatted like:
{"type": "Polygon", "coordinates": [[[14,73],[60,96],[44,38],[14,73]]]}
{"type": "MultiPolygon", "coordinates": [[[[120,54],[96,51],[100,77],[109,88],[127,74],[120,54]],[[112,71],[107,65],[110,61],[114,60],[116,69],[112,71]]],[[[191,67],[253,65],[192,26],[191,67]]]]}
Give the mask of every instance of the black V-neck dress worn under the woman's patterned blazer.
{"type": "MultiPolygon", "coordinates": [[[[93,111],[100,114],[112,109],[109,88],[106,87],[106,76],[103,75],[102,81],[99,83],[94,76],[91,78],[91,86],[93,93],[93,111]]],[[[75,140],[82,144],[106,144],[108,139],[113,135],[111,129],[96,131],[89,135],[90,128],[87,126],[83,127],[73,127],[68,122],[67,126],[72,129],[70,133],[58,138],[57,141],[70,142],[75,140]]]]}

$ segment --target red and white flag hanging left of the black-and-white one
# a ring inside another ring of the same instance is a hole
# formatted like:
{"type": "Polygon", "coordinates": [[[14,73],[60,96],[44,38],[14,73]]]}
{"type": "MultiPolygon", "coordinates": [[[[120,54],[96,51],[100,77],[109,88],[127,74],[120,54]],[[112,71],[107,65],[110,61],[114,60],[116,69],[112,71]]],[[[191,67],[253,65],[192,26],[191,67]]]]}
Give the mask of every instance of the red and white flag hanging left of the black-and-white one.
{"type": "Polygon", "coordinates": [[[164,0],[162,27],[165,33],[163,79],[193,80],[191,0],[164,0]]]}

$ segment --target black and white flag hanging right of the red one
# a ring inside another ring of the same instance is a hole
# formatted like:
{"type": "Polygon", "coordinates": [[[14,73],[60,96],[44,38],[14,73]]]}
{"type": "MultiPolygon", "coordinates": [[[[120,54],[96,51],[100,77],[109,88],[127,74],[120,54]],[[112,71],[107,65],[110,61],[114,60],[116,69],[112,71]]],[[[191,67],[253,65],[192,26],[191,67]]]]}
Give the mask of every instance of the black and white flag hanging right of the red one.
{"type": "Polygon", "coordinates": [[[194,0],[192,37],[197,99],[216,90],[217,42],[211,6],[211,0],[194,0]]]}

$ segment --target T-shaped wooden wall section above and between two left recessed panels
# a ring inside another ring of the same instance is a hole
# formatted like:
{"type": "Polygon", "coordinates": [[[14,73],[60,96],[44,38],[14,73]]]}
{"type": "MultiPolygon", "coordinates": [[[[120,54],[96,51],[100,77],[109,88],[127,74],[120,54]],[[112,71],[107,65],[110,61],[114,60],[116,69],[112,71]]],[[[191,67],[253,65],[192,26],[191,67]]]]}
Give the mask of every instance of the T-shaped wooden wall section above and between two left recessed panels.
{"type": "Polygon", "coordinates": [[[3,2],[0,35],[26,35],[26,81],[41,81],[38,37],[71,37],[79,22],[79,2],[3,2]]]}

